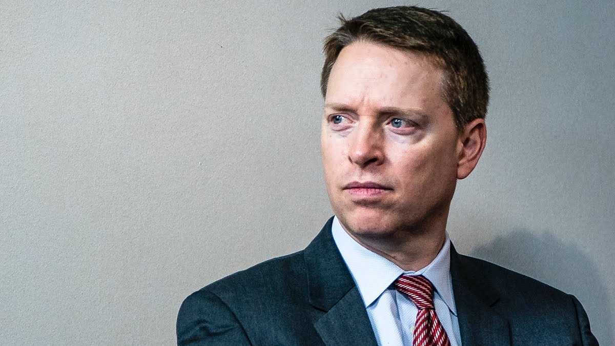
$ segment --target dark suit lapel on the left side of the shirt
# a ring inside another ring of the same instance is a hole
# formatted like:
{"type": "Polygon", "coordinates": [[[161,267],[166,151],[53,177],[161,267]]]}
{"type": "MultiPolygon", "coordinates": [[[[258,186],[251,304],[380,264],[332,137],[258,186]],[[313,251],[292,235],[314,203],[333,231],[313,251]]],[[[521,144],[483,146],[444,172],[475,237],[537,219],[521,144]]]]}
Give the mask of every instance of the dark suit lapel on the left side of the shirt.
{"type": "Polygon", "coordinates": [[[304,251],[309,302],[321,312],[314,328],[327,346],[377,346],[359,290],[333,241],[332,222],[333,217],[304,251]]]}

